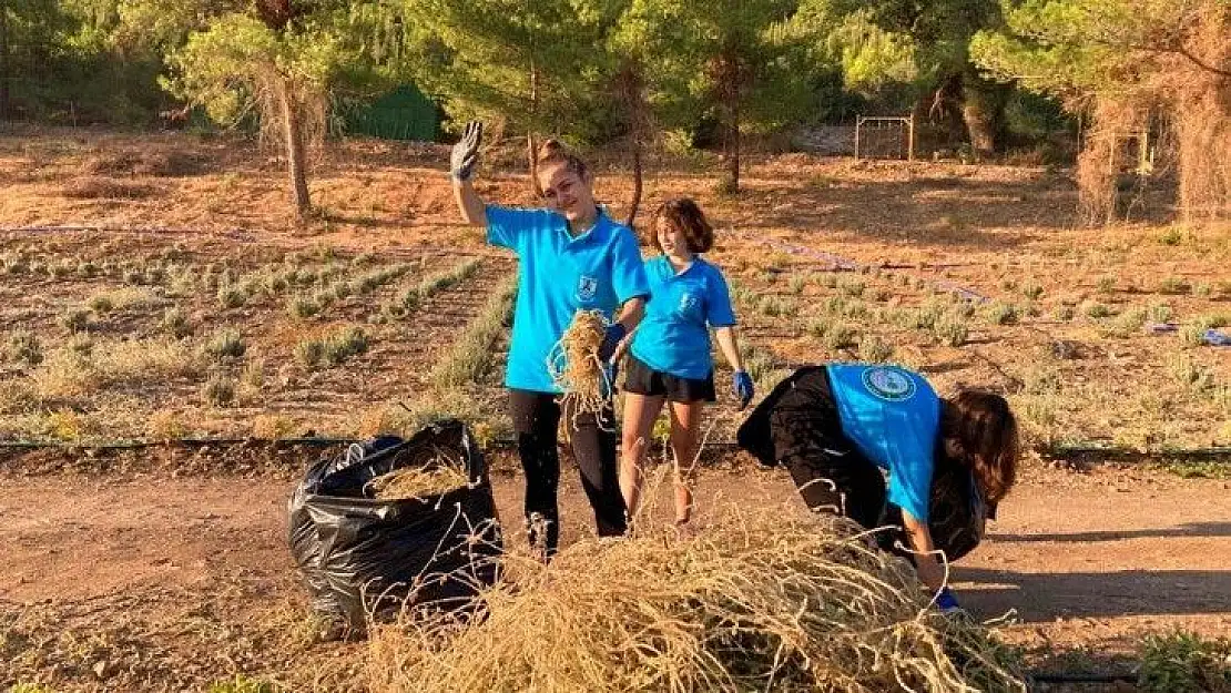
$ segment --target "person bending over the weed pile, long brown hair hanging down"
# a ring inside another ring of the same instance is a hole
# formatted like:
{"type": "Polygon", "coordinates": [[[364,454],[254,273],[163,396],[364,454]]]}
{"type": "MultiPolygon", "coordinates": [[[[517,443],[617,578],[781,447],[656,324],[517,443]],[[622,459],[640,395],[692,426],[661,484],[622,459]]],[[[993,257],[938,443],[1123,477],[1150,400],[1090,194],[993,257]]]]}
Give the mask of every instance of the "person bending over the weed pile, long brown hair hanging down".
{"type": "Polygon", "coordinates": [[[954,560],[972,549],[1017,475],[1017,421],[1004,398],[964,389],[940,399],[896,366],[801,368],[757,406],[739,443],[784,465],[812,510],[869,529],[900,515],[920,579],[944,611],[958,602],[936,551],[954,560]]]}

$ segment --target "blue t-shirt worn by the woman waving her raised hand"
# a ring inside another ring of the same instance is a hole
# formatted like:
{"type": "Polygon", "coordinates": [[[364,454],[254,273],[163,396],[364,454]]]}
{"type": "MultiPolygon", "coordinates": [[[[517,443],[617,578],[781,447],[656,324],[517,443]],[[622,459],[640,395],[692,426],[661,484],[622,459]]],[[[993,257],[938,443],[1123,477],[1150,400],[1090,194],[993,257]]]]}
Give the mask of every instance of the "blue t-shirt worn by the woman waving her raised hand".
{"type": "Polygon", "coordinates": [[[595,225],[574,238],[565,218],[549,209],[489,204],[487,242],[517,254],[517,308],[505,385],[559,393],[547,358],[577,310],[607,319],[624,302],[650,294],[633,231],[599,210],[595,225]]]}

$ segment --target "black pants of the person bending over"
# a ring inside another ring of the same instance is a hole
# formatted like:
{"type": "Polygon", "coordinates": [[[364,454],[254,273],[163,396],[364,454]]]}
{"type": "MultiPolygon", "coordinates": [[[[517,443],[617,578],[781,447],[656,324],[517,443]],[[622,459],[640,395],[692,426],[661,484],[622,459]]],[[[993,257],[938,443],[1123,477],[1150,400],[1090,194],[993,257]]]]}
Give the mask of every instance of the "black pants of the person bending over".
{"type": "Polygon", "coordinates": [[[790,471],[804,502],[832,508],[872,529],[885,510],[885,478],[842,433],[828,373],[801,368],[740,427],[740,447],[790,471]]]}

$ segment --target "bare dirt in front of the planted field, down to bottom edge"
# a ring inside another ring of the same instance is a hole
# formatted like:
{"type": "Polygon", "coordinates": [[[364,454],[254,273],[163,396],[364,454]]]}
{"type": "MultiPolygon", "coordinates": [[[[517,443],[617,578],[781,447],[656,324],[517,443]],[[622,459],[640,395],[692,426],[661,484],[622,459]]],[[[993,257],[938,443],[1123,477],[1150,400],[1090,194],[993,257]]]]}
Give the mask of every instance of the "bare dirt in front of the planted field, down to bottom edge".
{"type": "MultiPolygon", "coordinates": [[[[243,673],[345,689],[361,646],[303,634],[307,599],[286,543],[292,484],[0,479],[0,651],[12,667],[0,667],[0,684],[174,691],[243,673]]],[[[1041,671],[1129,671],[1146,633],[1231,635],[1229,490],[1133,469],[1030,468],[988,540],[954,567],[955,588],[981,619],[1009,614],[997,631],[1041,671]]],[[[508,460],[495,491],[511,542],[524,542],[508,460]]],[[[804,512],[784,474],[746,464],[707,470],[698,497],[702,524],[720,503],[804,512]]],[[[564,542],[590,532],[574,474],[563,512],[564,542]]]]}

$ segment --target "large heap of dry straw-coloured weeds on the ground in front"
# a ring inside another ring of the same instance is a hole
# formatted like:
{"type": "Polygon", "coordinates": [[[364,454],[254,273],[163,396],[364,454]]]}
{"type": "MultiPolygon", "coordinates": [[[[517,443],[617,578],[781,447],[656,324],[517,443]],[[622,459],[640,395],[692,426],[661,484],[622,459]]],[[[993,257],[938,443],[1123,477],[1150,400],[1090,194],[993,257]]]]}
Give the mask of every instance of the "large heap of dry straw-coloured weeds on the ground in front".
{"type": "MultiPolygon", "coordinates": [[[[583,540],[481,617],[372,633],[374,692],[1022,691],[998,645],[928,612],[841,519],[735,508],[692,537],[583,540]]],[[[506,564],[507,565],[507,564],[506,564]]]]}

